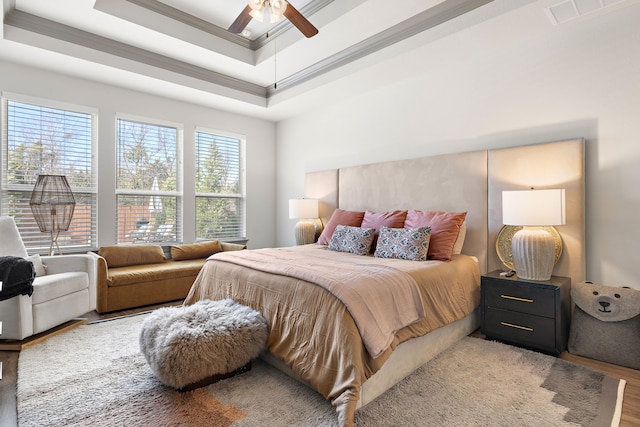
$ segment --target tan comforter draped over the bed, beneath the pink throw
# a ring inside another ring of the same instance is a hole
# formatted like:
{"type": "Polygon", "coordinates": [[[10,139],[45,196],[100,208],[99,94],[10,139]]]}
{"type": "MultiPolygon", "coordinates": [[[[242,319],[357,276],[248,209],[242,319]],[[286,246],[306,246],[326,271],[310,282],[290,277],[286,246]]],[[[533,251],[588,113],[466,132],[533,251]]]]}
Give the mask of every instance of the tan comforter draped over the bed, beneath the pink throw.
{"type": "MultiPolygon", "coordinates": [[[[378,265],[403,271],[417,283],[424,302],[426,316],[393,334],[389,348],[374,358],[345,304],[324,287],[217,256],[205,263],[185,304],[232,298],[261,312],[269,322],[269,352],[331,401],[341,426],[352,425],[362,384],[382,367],[398,344],[462,319],[479,305],[480,272],[466,255],[455,255],[446,263],[384,260],[333,252],[319,245],[281,250],[303,254],[306,258],[299,260],[300,265],[327,260],[333,265],[328,270],[337,277],[337,266],[345,262],[365,269],[378,265]]],[[[373,300],[366,295],[363,299],[373,300]]]]}

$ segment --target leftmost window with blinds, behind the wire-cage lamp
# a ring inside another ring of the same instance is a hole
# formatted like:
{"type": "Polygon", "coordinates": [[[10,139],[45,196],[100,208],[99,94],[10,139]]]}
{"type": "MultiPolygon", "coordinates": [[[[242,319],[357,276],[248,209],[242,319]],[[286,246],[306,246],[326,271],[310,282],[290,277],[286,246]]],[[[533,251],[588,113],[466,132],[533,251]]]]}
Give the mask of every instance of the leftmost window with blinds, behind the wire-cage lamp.
{"type": "Polygon", "coordinates": [[[51,236],[40,232],[29,200],[39,174],[65,175],[76,206],[58,244],[63,252],[95,249],[95,112],[13,95],[2,107],[2,215],[14,218],[30,253],[48,253],[51,236]]]}

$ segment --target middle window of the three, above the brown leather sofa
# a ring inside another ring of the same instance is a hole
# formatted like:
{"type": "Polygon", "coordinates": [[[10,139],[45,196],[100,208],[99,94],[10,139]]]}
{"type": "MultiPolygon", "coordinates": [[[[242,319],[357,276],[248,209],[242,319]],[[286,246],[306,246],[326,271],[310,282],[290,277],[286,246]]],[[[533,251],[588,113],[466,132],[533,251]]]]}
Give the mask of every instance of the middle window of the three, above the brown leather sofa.
{"type": "Polygon", "coordinates": [[[117,242],[181,237],[177,126],[117,120],[117,242]]]}

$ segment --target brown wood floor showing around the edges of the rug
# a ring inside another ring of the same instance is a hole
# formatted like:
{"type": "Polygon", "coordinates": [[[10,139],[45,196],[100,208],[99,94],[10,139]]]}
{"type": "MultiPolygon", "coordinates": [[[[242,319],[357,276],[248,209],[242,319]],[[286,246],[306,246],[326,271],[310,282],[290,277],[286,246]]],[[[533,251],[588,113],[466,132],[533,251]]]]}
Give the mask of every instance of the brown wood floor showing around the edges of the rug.
{"type": "MultiPolygon", "coordinates": [[[[179,304],[179,302],[148,306],[141,309],[125,310],[104,315],[98,314],[94,311],[88,313],[85,317],[89,319],[89,322],[92,322],[176,304],[179,304]]],[[[480,334],[474,334],[475,337],[478,337],[479,335],[480,334]]],[[[16,411],[16,372],[18,371],[18,355],[18,351],[0,351],[0,360],[3,362],[3,376],[2,380],[0,380],[0,426],[3,427],[12,427],[17,426],[18,424],[16,411]]],[[[624,392],[620,426],[640,426],[640,371],[575,356],[567,352],[562,353],[560,358],[587,366],[614,378],[625,379],[627,381],[627,385],[624,392]]]]}

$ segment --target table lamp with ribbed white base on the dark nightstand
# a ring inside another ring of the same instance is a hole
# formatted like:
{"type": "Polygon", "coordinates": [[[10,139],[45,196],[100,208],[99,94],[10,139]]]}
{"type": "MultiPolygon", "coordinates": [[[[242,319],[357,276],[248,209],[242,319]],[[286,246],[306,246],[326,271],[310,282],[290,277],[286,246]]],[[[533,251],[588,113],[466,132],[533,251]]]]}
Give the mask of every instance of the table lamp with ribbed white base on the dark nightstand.
{"type": "Polygon", "coordinates": [[[502,223],[523,226],[513,235],[511,252],[521,279],[551,279],[555,241],[544,228],[565,223],[564,189],[502,192],[502,223]]]}

